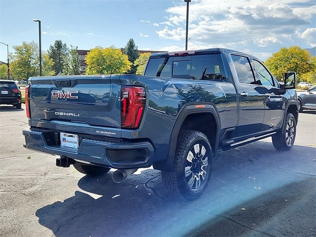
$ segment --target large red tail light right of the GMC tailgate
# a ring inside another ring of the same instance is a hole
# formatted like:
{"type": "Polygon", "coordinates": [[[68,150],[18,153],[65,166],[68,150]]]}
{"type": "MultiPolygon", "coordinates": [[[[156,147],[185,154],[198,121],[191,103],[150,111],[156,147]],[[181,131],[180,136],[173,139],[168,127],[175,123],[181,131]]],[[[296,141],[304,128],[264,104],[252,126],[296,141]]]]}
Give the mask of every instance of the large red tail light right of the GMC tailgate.
{"type": "Polygon", "coordinates": [[[121,126],[138,128],[146,105],[146,91],[143,87],[122,86],[121,126]]]}

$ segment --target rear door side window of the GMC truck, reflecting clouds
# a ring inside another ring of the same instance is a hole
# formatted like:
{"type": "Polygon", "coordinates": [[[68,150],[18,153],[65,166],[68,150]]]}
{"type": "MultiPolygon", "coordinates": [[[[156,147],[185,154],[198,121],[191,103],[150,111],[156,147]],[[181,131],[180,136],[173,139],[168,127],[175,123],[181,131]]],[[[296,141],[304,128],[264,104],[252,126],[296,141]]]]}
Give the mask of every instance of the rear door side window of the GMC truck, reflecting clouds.
{"type": "Polygon", "coordinates": [[[239,83],[255,84],[250,62],[247,57],[232,55],[239,83]]]}

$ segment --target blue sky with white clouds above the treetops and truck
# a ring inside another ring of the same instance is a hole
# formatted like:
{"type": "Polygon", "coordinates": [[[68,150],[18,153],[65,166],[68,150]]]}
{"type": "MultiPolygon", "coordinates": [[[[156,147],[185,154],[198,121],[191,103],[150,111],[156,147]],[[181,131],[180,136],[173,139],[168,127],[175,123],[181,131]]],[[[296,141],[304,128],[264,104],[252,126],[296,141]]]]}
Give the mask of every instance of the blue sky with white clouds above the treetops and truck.
{"type": "MultiPolygon", "coordinates": [[[[11,46],[38,42],[42,49],[62,40],[79,49],[123,47],[183,50],[183,0],[0,0],[0,41],[11,46]]],[[[227,47],[266,59],[280,47],[316,46],[314,0],[192,0],[189,49],[227,47]]],[[[0,60],[6,47],[0,45],[0,60]]]]}

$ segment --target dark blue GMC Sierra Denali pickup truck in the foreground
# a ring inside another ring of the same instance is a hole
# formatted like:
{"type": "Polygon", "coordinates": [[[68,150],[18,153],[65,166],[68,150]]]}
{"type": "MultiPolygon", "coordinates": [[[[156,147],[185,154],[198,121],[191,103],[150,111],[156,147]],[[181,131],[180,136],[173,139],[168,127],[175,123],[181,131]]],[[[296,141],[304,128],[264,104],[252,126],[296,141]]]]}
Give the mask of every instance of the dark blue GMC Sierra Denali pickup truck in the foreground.
{"type": "Polygon", "coordinates": [[[170,193],[192,200],[205,190],[219,150],[272,137],[292,148],[298,121],[296,74],[278,82],[257,58],[207,50],[155,53],[143,76],[30,78],[28,149],[60,156],[86,175],[161,170],[170,193]]]}

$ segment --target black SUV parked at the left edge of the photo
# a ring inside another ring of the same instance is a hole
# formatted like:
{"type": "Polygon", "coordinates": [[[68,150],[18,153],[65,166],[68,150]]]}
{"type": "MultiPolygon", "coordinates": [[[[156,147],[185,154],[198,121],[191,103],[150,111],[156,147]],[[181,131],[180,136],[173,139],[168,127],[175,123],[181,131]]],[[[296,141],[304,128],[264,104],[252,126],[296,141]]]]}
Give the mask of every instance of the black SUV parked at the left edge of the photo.
{"type": "Polygon", "coordinates": [[[13,80],[0,80],[0,105],[13,105],[21,109],[21,91],[13,80]]]}

